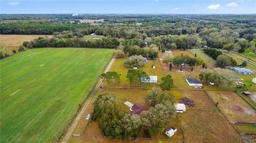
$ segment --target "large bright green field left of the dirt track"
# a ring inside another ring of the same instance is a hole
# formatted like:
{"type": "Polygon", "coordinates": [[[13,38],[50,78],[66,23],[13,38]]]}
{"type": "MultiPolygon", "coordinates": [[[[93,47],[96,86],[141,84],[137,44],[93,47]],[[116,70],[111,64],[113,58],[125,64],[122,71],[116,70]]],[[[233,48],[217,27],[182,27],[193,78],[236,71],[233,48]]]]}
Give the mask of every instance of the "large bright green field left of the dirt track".
{"type": "Polygon", "coordinates": [[[41,48],[1,60],[1,142],[55,142],[113,54],[41,48]]]}

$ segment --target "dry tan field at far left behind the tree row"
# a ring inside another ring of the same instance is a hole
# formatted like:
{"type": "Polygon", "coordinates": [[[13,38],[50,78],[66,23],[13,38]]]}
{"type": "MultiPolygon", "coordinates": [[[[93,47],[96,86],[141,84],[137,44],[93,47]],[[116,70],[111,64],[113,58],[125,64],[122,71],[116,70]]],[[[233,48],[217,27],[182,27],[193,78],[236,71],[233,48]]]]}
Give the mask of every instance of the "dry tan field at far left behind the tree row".
{"type": "Polygon", "coordinates": [[[52,37],[52,35],[0,35],[0,51],[12,54],[15,49],[18,52],[23,41],[30,41],[38,37],[52,37]]]}

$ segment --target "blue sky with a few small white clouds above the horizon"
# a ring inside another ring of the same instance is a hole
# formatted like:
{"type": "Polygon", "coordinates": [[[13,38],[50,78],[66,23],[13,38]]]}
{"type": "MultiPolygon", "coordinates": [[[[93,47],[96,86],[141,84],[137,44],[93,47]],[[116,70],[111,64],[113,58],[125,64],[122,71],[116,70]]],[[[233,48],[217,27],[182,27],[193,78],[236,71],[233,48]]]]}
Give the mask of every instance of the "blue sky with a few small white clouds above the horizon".
{"type": "Polygon", "coordinates": [[[0,0],[1,14],[255,14],[256,0],[0,0]]]}

